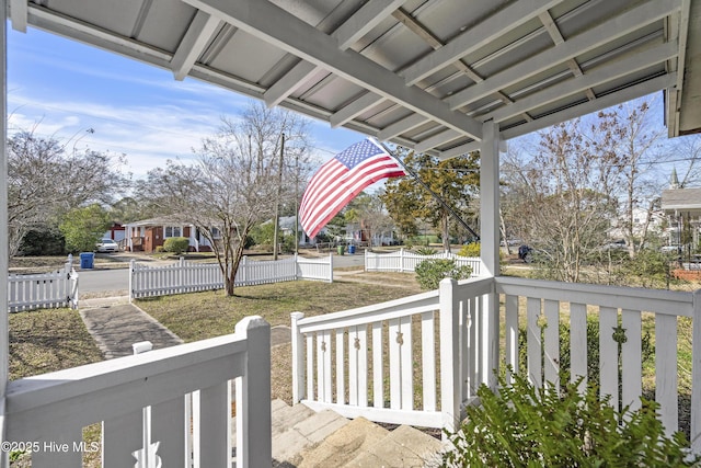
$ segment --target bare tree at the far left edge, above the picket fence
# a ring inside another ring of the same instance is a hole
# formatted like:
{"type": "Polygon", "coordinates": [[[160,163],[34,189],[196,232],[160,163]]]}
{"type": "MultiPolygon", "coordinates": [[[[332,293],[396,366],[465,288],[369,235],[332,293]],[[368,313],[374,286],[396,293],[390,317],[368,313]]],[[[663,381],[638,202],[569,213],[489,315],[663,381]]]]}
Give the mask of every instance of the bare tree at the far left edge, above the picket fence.
{"type": "Polygon", "coordinates": [[[53,138],[20,132],[8,139],[8,226],[10,255],[28,229],[53,222],[89,203],[108,205],[129,181],[124,159],[77,151],[53,138]]]}

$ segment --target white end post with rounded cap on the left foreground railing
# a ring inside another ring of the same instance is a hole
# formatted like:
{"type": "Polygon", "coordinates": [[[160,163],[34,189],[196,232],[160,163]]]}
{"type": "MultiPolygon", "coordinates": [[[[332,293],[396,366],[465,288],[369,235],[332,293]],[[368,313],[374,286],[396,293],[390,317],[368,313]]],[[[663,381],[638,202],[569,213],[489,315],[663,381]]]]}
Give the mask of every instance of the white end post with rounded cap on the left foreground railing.
{"type": "Polygon", "coordinates": [[[237,333],[248,343],[245,374],[237,387],[237,466],[269,467],[271,444],[271,326],[262,317],[246,317],[237,333]]]}

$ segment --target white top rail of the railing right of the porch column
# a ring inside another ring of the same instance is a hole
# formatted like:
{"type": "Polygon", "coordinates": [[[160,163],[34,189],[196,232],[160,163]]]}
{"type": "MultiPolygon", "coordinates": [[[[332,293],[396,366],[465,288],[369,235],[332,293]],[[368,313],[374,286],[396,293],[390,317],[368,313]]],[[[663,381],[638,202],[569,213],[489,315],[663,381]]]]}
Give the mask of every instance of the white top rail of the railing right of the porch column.
{"type": "Polygon", "coordinates": [[[693,313],[693,293],[562,283],[509,276],[497,276],[495,283],[496,292],[501,294],[681,317],[691,317],[693,313]]]}

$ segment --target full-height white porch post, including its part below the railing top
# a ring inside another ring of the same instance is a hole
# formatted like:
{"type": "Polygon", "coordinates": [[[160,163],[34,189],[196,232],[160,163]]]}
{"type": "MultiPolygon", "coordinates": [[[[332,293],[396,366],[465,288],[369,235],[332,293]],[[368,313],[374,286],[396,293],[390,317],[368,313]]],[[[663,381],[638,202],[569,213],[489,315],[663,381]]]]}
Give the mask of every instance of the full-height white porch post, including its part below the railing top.
{"type": "MultiPolygon", "coordinates": [[[[499,128],[493,121],[482,126],[480,147],[480,241],[482,274],[499,275],[499,128]]],[[[499,301],[495,293],[485,295],[485,342],[480,353],[483,383],[496,388],[499,346],[499,301]]]]}

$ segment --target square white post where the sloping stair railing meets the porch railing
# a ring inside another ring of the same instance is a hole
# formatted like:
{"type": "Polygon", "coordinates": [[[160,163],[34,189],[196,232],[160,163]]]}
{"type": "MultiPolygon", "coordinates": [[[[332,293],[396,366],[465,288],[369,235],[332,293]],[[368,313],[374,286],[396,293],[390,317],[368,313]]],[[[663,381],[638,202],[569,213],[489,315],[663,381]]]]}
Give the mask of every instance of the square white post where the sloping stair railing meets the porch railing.
{"type": "MultiPolygon", "coordinates": [[[[439,285],[440,315],[440,411],[443,412],[443,427],[452,433],[460,421],[460,404],[462,403],[460,355],[460,307],[456,299],[458,282],[445,278],[439,285]]],[[[446,434],[444,434],[444,437],[446,434]]]]}

